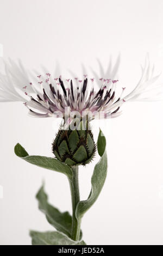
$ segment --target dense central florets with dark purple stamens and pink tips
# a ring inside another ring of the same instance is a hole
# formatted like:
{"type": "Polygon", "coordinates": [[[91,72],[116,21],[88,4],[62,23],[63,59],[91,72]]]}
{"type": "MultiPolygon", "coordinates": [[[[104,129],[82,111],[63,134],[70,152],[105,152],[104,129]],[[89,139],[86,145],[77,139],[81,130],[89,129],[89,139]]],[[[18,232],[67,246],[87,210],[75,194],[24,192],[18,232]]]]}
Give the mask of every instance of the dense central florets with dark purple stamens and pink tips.
{"type": "MultiPolygon", "coordinates": [[[[35,117],[60,117],[65,118],[66,113],[79,113],[80,115],[92,114],[97,117],[98,113],[104,112],[106,117],[114,117],[122,105],[121,95],[116,95],[116,81],[102,82],[101,88],[95,91],[93,78],[90,81],[62,80],[58,78],[56,83],[52,78],[43,80],[41,92],[35,96],[30,95],[30,101],[26,102],[30,115],[35,117]],[[47,83],[47,84],[45,84],[47,83]]],[[[26,88],[25,94],[28,94],[26,88]]]]}

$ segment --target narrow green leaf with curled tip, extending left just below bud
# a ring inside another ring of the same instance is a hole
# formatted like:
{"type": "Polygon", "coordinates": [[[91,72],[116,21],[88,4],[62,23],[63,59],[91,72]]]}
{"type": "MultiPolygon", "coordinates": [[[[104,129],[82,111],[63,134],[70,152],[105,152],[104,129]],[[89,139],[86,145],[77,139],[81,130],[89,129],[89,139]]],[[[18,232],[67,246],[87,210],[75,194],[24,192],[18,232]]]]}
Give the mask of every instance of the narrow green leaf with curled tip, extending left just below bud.
{"type": "Polygon", "coordinates": [[[15,154],[18,157],[21,157],[23,160],[26,160],[29,163],[35,164],[49,170],[55,170],[56,172],[64,173],[68,178],[72,178],[73,172],[72,169],[67,166],[67,164],[62,163],[61,161],[54,159],[52,157],[46,156],[29,156],[27,151],[17,143],[15,146],[15,154]]]}

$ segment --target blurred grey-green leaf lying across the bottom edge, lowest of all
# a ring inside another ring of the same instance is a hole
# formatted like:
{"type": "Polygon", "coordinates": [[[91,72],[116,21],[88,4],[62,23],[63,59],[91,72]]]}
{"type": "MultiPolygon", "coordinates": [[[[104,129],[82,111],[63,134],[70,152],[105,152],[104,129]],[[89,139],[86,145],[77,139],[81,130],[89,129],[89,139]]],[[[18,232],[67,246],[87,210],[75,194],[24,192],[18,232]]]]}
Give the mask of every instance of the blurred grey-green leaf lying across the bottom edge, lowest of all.
{"type": "Polygon", "coordinates": [[[73,241],[58,231],[30,231],[32,245],[86,245],[84,241],[73,241]]]}

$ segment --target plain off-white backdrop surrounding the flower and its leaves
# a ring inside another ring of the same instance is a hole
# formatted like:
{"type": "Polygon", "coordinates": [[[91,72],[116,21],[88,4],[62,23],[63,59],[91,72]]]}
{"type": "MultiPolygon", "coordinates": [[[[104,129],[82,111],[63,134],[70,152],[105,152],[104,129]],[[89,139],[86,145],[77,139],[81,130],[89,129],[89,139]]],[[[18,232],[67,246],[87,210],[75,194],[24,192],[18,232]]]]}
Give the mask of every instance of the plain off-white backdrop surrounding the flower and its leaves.
{"type": "MultiPolygon", "coordinates": [[[[127,92],[139,81],[146,52],[163,69],[161,0],[0,0],[0,43],[5,59],[20,58],[29,70],[41,65],[79,75],[83,63],[98,72],[121,53],[120,86],[127,92]]],[[[0,68],[3,69],[2,58],[0,68]]],[[[67,76],[70,76],[68,74],[67,76]]],[[[69,77],[68,77],[69,78],[69,77]]],[[[163,86],[163,76],[161,77],[163,86]]],[[[107,140],[108,176],[82,221],[88,245],[163,244],[163,102],[128,103],[117,119],[92,122],[107,140]]],[[[71,212],[66,176],[18,159],[20,142],[29,154],[52,156],[59,121],[35,119],[21,102],[0,103],[0,243],[30,245],[29,230],[53,230],[37,209],[35,194],[45,180],[49,200],[71,212]]],[[[81,199],[90,193],[95,161],[79,172],[81,199]]]]}

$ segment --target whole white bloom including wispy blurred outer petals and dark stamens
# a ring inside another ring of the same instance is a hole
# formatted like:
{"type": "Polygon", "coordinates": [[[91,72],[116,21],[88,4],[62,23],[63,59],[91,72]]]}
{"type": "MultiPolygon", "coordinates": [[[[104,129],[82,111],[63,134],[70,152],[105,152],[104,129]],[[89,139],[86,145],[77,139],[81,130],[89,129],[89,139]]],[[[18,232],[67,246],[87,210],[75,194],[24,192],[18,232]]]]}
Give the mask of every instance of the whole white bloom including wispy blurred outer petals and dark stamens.
{"type": "Polygon", "coordinates": [[[102,76],[99,78],[93,71],[95,78],[84,75],[81,80],[77,77],[63,80],[61,76],[52,77],[48,72],[31,75],[20,62],[16,64],[9,60],[5,62],[5,74],[0,74],[0,101],[23,101],[34,117],[60,117],[60,113],[65,117],[67,109],[68,112],[78,111],[80,114],[91,112],[94,118],[103,112],[103,118],[114,118],[121,114],[119,109],[126,101],[161,99],[162,86],[155,85],[159,75],[153,76],[154,68],[151,68],[148,57],[135,89],[126,96],[123,96],[125,87],[117,93],[115,75],[119,63],[117,58],[114,68],[111,70],[109,65],[106,73],[99,63],[102,76]],[[99,83],[100,89],[96,90],[99,83]]]}

